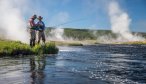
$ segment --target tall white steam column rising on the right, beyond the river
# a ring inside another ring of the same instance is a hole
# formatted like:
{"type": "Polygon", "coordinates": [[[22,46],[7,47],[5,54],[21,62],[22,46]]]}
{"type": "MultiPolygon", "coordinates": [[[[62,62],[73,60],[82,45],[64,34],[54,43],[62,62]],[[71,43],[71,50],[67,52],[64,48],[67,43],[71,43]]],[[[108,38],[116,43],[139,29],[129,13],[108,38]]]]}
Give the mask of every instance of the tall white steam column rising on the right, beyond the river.
{"type": "Polygon", "coordinates": [[[131,33],[129,29],[131,19],[126,12],[121,10],[116,1],[111,1],[109,4],[109,16],[113,33],[119,36],[118,41],[144,40],[144,38],[131,33]]]}

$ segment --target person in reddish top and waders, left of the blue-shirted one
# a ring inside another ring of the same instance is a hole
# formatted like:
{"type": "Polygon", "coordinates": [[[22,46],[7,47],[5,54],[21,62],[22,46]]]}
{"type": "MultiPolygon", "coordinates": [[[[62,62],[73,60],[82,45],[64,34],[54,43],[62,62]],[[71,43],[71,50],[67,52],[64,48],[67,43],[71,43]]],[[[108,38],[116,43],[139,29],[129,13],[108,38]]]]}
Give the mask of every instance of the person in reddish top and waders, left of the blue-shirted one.
{"type": "Polygon", "coordinates": [[[35,23],[35,19],[37,18],[37,15],[33,15],[29,20],[30,25],[30,46],[35,46],[35,40],[36,40],[36,29],[37,24],[35,23]]]}

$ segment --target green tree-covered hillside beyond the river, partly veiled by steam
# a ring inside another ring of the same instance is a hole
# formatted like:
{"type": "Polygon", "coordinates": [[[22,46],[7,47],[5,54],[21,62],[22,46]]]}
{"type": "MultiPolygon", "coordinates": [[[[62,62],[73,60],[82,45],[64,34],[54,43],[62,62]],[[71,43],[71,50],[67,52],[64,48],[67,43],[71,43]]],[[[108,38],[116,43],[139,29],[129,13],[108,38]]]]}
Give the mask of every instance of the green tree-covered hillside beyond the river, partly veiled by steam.
{"type": "MultiPolygon", "coordinates": [[[[56,30],[56,28],[46,28],[46,35],[53,36],[50,32],[56,30]]],[[[116,38],[117,35],[112,33],[111,30],[90,30],[90,29],[74,29],[74,28],[64,28],[63,37],[73,38],[78,40],[96,40],[101,36],[106,36],[107,38],[116,38]]],[[[58,31],[59,32],[59,31],[58,31]]],[[[57,33],[57,31],[56,31],[57,33]]],[[[133,34],[140,35],[146,38],[146,33],[133,32],[133,34]]]]}

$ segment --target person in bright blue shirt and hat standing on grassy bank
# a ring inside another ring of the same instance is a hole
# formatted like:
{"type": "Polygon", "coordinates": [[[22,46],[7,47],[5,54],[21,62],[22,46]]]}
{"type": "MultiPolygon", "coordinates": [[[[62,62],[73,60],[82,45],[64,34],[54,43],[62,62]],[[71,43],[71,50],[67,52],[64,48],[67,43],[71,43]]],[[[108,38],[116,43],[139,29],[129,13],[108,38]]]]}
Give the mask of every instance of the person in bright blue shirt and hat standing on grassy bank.
{"type": "Polygon", "coordinates": [[[38,22],[37,22],[37,26],[38,26],[38,44],[40,43],[40,40],[42,39],[43,43],[45,44],[45,33],[44,33],[44,30],[45,30],[45,24],[44,22],[42,21],[43,17],[42,16],[39,16],[38,17],[38,22]]]}

